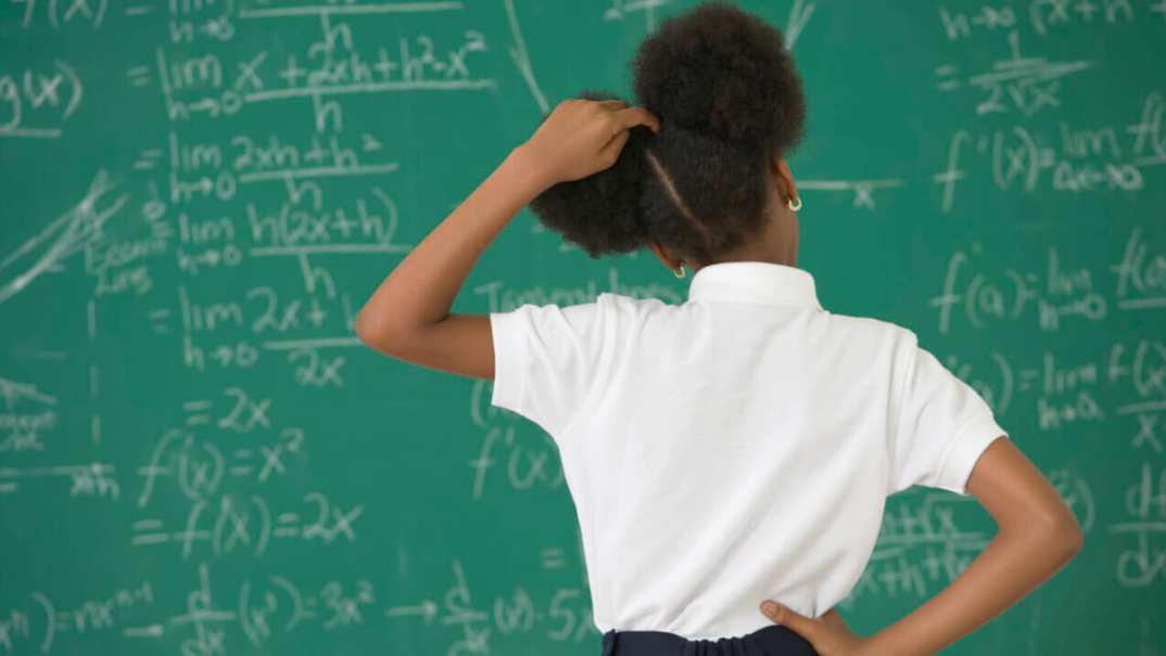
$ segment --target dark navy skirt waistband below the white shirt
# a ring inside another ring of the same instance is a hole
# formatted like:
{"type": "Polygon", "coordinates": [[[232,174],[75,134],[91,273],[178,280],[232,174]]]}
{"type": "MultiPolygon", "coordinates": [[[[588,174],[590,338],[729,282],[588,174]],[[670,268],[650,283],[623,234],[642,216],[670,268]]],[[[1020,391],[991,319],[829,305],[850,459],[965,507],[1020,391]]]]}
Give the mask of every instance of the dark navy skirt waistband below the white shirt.
{"type": "Polygon", "coordinates": [[[737,637],[688,640],[667,632],[609,630],[603,656],[819,656],[789,627],[772,625],[737,637]]]}

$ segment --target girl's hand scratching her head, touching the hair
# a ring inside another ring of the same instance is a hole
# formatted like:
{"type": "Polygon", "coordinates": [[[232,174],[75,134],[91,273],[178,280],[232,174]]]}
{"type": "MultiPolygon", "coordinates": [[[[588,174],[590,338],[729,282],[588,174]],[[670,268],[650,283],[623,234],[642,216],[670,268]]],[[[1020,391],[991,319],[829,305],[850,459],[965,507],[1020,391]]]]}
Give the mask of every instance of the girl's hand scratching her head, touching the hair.
{"type": "Polygon", "coordinates": [[[570,98],[560,103],[519,148],[549,185],[580,179],[610,168],[619,158],[631,128],[660,131],[660,119],[623,100],[570,98]]]}

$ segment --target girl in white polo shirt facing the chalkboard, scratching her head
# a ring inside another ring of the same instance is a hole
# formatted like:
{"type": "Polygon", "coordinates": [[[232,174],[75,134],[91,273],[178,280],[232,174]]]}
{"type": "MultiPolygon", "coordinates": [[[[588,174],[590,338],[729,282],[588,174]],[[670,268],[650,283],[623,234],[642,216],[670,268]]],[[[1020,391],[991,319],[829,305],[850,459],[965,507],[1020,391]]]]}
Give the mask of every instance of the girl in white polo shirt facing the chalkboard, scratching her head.
{"type": "Polygon", "coordinates": [[[385,354],[493,380],[493,405],[555,439],[605,654],[933,654],[1063,566],[1080,528],[983,398],[911,330],[824,310],[796,268],[786,155],[805,101],[782,35],[705,3],[633,68],[639,106],[556,106],[356,326],[385,354]],[[451,313],[527,204],[591,258],[646,246],[693,270],[687,301],[451,313]],[[855,635],[833,606],[885,498],[912,485],[975,496],[999,531],[935,598],[855,635]]]}

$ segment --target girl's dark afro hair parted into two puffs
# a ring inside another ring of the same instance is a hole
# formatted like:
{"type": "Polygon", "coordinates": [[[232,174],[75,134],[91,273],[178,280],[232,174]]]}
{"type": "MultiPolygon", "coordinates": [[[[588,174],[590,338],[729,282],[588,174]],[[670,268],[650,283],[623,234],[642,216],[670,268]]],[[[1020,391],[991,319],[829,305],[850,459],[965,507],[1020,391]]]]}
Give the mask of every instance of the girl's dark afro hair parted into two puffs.
{"type": "MultiPolygon", "coordinates": [[[[550,186],[531,209],[592,259],[654,240],[710,263],[761,227],[770,162],[802,139],[793,57],[764,19],[705,2],[665,20],[632,69],[635,105],[660,119],[660,132],[631,128],[612,167],[550,186]]],[[[590,90],[578,98],[619,99],[590,90]]]]}

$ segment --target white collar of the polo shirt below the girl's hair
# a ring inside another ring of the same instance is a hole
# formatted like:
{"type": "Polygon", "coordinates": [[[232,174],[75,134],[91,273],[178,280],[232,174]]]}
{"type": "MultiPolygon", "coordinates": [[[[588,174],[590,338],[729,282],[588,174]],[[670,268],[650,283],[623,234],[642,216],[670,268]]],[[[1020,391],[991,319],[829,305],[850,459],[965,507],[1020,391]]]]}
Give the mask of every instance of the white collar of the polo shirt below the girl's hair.
{"type": "Polygon", "coordinates": [[[814,276],[773,262],[735,261],[701,267],[688,283],[689,301],[739,301],[822,310],[814,276]]]}

